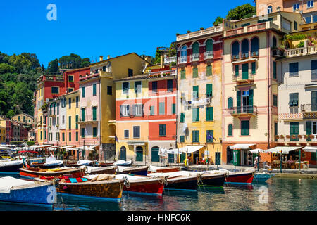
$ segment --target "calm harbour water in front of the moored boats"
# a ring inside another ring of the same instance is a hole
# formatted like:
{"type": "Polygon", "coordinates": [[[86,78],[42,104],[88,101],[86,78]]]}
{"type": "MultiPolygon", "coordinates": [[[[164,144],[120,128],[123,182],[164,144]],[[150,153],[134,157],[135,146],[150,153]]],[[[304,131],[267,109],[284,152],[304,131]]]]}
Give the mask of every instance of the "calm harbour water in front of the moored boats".
{"type": "MultiPolygon", "coordinates": [[[[3,176],[3,175],[0,175],[3,176]]],[[[18,176],[15,176],[18,177],[18,176]]],[[[47,207],[0,203],[0,211],[42,211],[47,207]]],[[[223,188],[202,188],[197,193],[186,191],[165,191],[163,196],[123,194],[120,203],[89,198],[75,198],[57,195],[54,211],[225,211],[260,210],[287,211],[317,210],[317,179],[277,178],[252,186],[224,186],[223,188]],[[266,192],[262,192],[266,191],[266,192]],[[266,194],[267,193],[267,194],[266,194]]]]}

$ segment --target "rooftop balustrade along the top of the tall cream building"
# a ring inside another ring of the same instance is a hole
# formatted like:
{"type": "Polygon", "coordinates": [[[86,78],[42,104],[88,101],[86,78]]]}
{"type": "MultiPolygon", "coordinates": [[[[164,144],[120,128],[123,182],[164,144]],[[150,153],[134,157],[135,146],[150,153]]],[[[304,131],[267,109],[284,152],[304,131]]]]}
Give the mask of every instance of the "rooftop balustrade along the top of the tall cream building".
{"type": "Polygon", "coordinates": [[[270,28],[275,28],[275,29],[280,30],[278,28],[278,25],[275,25],[271,21],[266,21],[264,23],[257,23],[256,25],[249,25],[249,26],[245,26],[245,27],[232,29],[232,30],[226,30],[223,37],[230,37],[230,36],[235,36],[235,35],[239,35],[239,34],[247,34],[249,32],[257,32],[257,31],[266,30],[266,29],[270,29],[270,28]]]}

